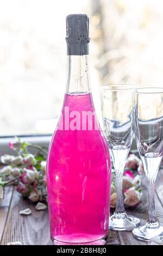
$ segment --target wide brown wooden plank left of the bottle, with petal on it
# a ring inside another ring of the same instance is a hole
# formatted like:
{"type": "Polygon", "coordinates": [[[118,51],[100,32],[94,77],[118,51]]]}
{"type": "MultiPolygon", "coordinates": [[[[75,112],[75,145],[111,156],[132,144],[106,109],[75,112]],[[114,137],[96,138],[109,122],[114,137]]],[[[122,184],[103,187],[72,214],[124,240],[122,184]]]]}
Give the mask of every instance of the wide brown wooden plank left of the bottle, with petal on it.
{"type": "Polygon", "coordinates": [[[36,211],[35,204],[14,190],[9,209],[7,224],[4,229],[2,245],[20,241],[23,245],[52,245],[49,237],[48,210],[36,211]],[[19,215],[20,210],[30,208],[32,214],[19,215]]]}

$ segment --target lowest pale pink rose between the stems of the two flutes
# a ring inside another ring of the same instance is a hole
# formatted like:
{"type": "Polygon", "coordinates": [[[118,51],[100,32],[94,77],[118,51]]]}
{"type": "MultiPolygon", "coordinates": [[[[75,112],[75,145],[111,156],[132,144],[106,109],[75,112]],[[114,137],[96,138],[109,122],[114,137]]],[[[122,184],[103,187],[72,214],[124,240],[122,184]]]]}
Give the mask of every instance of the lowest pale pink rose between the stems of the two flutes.
{"type": "Polygon", "coordinates": [[[135,187],[129,188],[126,192],[124,192],[124,196],[126,197],[124,199],[124,204],[128,206],[135,206],[139,204],[141,193],[139,191],[135,190],[135,187]]]}

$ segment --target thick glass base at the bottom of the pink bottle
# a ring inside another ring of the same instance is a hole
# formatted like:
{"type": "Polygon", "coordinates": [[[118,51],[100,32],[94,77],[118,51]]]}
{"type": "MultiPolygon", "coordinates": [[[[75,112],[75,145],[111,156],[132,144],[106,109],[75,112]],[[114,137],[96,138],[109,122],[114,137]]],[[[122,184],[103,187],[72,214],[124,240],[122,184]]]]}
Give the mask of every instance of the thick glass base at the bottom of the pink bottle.
{"type": "Polygon", "coordinates": [[[105,245],[108,235],[100,238],[89,234],[72,234],[52,237],[54,245],[105,245]]]}

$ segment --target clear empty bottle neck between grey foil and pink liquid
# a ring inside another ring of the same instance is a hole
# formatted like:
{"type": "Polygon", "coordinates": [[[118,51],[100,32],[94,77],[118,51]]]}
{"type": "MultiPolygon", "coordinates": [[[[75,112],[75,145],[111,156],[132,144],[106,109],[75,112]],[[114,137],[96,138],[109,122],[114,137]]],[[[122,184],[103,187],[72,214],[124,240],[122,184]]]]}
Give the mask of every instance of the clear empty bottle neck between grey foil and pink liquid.
{"type": "Polygon", "coordinates": [[[68,94],[90,93],[89,56],[67,55],[67,86],[68,94]]]}

